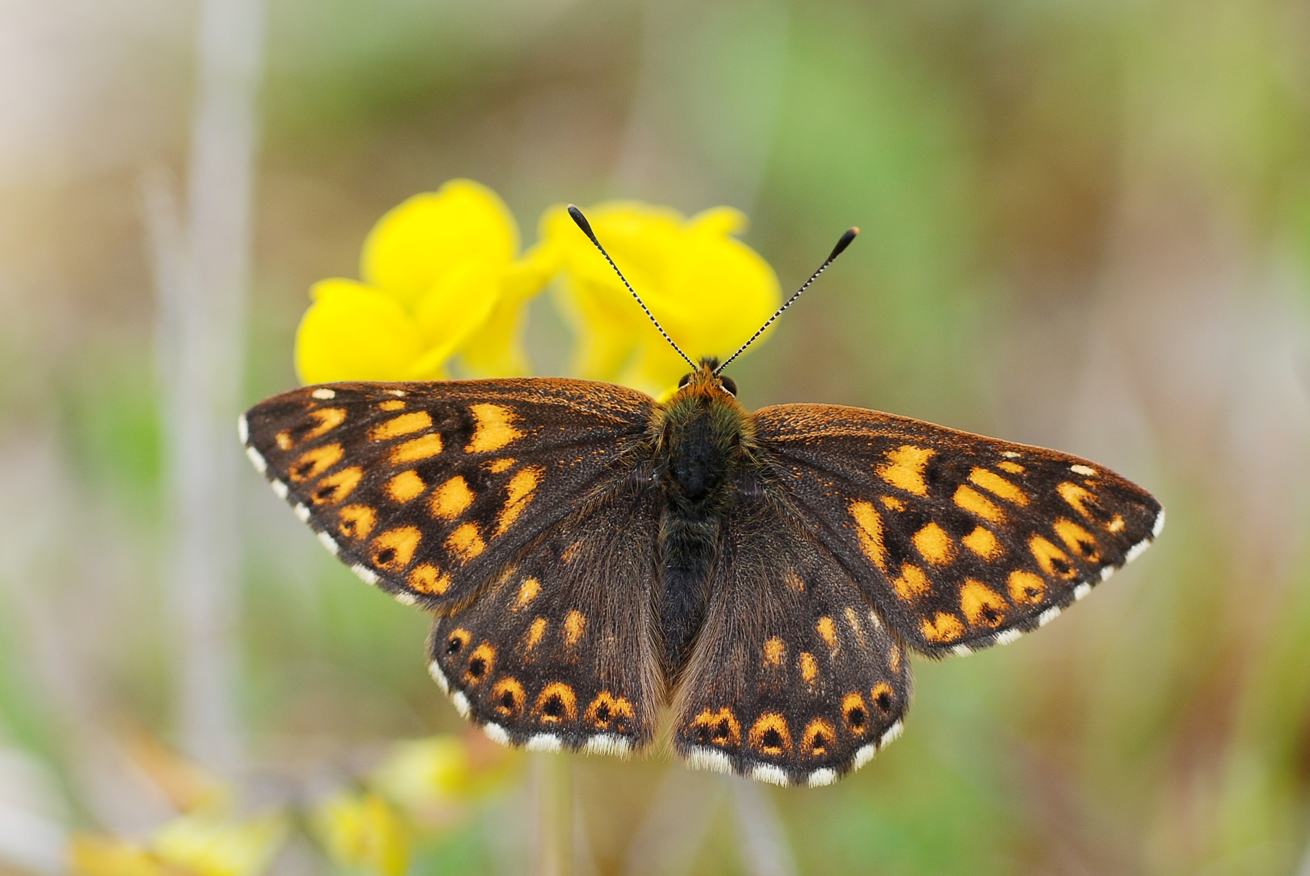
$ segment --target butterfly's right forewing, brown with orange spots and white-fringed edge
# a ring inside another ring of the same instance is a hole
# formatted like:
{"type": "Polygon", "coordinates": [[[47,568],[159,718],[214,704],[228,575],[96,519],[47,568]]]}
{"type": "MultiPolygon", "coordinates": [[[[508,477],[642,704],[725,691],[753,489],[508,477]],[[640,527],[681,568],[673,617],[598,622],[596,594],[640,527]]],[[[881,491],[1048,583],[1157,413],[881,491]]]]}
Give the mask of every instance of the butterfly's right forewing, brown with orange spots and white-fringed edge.
{"type": "Polygon", "coordinates": [[[779,405],[753,419],[819,541],[929,655],[1041,626],[1163,525],[1145,490],[1065,453],[855,407],[779,405]]]}

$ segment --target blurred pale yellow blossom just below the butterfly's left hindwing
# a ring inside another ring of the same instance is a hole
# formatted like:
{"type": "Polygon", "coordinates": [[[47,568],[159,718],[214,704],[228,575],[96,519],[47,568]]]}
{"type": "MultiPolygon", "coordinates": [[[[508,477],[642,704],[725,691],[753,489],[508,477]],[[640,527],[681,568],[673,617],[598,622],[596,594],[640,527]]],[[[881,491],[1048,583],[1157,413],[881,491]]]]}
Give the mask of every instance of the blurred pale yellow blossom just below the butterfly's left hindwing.
{"type": "Polygon", "coordinates": [[[469,803],[502,786],[516,759],[481,733],[432,736],[397,744],[372,773],[371,784],[417,822],[438,828],[462,817],[469,803]]]}

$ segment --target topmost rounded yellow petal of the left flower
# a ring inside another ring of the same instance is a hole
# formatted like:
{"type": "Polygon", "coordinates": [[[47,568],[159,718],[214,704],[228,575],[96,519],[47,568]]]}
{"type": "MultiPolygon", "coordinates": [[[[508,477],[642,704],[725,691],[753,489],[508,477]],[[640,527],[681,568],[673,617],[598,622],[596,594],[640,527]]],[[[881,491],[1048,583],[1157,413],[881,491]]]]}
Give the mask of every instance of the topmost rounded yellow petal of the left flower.
{"type": "Polygon", "coordinates": [[[470,179],[414,195],[383,216],[364,240],[360,276],[414,305],[468,259],[507,265],[519,225],[500,198],[470,179]]]}

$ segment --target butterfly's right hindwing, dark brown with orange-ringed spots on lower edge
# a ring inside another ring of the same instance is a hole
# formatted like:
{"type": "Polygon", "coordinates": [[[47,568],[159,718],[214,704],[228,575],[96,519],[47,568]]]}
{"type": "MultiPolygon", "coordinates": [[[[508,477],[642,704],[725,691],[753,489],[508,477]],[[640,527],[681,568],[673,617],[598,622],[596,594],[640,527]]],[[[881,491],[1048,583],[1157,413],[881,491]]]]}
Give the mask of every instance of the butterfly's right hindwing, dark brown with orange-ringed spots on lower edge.
{"type": "Polygon", "coordinates": [[[675,698],[673,745],[693,766],[828,784],[900,732],[909,659],[803,526],[765,498],[723,524],[675,698]]]}

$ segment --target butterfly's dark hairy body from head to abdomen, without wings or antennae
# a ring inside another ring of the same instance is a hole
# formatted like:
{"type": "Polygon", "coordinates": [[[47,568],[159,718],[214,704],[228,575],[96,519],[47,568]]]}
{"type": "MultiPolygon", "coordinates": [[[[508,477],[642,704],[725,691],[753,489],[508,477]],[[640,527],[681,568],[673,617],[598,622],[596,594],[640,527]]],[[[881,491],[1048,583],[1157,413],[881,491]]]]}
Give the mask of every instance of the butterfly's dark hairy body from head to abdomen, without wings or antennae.
{"type": "Polygon", "coordinates": [[[705,621],[724,515],[757,477],[751,415],[702,361],[656,409],[655,477],[664,496],[655,609],[664,665],[676,673],[705,621]]]}

